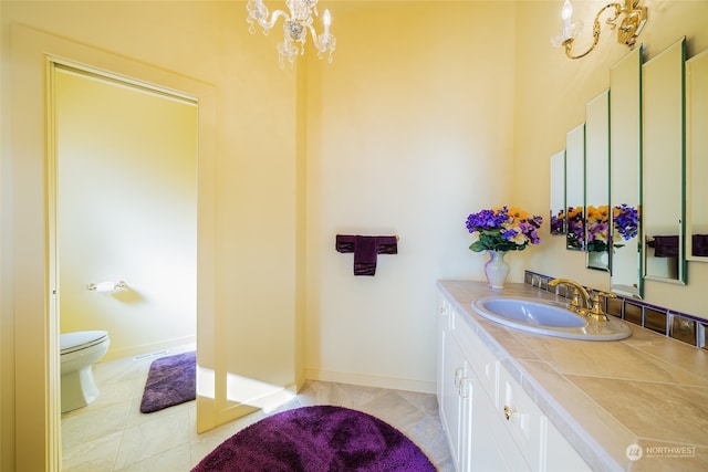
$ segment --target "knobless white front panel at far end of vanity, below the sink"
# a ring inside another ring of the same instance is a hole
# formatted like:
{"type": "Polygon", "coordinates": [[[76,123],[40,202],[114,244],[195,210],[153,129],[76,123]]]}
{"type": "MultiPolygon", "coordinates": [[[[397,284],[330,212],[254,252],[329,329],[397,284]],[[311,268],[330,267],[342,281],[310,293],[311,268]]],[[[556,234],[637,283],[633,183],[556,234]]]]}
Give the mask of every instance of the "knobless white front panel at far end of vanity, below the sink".
{"type": "Polygon", "coordinates": [[[461,319],[467,314],[455,313],[456,333],[467,359],[479,379],[480,387],[487,392],[489,398],[497,400],[497,379],[499,371],[499,360],[489,350],[485,343],[475,334],[472,328],[461,319]]]}

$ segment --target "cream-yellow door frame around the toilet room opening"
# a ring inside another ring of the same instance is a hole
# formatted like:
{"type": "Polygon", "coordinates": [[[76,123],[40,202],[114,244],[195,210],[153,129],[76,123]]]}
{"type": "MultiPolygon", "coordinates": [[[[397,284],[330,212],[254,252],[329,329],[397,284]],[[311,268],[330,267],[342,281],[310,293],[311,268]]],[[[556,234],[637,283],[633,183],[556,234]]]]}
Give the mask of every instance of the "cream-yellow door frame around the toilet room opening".
{"type": "MultiPolygon", "coordinates": [[[[214,369],[216,268],[216,88],[198,80],[138,63],[31,28],[12,24],[10,190],[15,357],[15,466],[61,470],[61,401],[55,211],[55,136],[52,69],[64,63],[127,82],[185,95],[198,104],[197,364],[214,369]],[[90,65],[88,65],[90,64],[90,65]],[[159,84],[159,85],[158,85],[159,84]],[[41,353],[41,355],[38,355],[41,353]]],[[[4,284],[6,282],[3,282],[4,284]]],[[[9,284],[9,282],[7,282],[9,284]]],[[[3,285],[3,293],[6,293],[3,285]]],[[[198,391],[209,390],[201,381],[198,391]]],[[[4,380],[4,378],[3,378],[4,380]]],[[[212,388],[211,388],[212,390],[212,388]]],[[[199,430],[214,424],[214,401],[197,396],[199,430]]]]}

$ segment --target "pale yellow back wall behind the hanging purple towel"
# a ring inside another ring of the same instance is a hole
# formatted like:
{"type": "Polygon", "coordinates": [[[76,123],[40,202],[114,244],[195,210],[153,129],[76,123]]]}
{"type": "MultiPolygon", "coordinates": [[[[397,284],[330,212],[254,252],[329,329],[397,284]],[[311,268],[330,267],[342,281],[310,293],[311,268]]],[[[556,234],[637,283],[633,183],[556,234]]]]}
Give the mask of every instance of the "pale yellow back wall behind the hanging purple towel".
{"type": "Polygon", "coordinates": [[[334,11],[334,63],[309,59],[308,376],[431,392],[435,281],[481,276],[465,220],[511,203],[514,4],[334,11]],[[398,254],[354,276],[337,233],[398,234],[398,254]]]}

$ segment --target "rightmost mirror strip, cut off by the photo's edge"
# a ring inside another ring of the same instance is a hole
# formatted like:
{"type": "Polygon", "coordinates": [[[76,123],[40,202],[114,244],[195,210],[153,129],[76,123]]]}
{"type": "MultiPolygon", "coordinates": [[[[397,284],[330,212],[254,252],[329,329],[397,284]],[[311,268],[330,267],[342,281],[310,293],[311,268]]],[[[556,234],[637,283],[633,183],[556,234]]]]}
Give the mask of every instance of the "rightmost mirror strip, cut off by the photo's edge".
{"type": "Polygon", "coordinates": [[[686,61],[686,256],[708,262],[708,51],[686,61]]]}

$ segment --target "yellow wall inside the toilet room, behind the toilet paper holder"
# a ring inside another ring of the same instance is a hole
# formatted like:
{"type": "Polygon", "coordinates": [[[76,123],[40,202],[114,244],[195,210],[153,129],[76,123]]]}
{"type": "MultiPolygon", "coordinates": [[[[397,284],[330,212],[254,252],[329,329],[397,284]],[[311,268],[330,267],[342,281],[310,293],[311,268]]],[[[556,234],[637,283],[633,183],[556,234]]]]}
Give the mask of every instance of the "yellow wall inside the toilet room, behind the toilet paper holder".
{"type": "Polygon", "coordinates": [[[61,332],[106,329],[105,360],[194,343],[197,104],[54,76],[61,332]]]}

